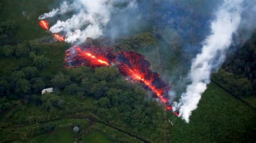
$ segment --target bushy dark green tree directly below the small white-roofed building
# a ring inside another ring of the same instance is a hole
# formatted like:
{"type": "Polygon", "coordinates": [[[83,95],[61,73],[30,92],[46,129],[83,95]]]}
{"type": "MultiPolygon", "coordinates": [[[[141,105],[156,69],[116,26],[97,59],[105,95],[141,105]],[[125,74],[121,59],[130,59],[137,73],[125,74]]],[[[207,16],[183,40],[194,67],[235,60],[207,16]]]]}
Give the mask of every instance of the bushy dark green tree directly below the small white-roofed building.
{"type": "Polygon", "coordinates": [[[65,102],[60,99],[59,96],[50,94],[49,92],[45,92],[42,95],[41,101],[45,110],[50,110],[52,108],[63,109],[65,104],[65,102]]]}

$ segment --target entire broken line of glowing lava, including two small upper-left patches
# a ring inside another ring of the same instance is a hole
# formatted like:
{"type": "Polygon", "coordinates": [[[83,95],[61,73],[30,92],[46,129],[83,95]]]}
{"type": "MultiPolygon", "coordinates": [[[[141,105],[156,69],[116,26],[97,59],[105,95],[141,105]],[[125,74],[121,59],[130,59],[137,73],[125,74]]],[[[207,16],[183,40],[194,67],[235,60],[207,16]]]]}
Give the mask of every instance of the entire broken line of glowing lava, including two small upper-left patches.
{"type": "MultiPolygon", "coordinates": [[[[49,31],[49,24],[46,20],[41,20],[39,25],[49,31]]],[[[58,33],[53,33],[53,37],[59,41],[65,41],[65,37],[58,33]]],[[[111,66],[111,61],[117,65],[123,76],[133,82],[143,83],[145,88],[152,90],[154,96],[165,104],[167,111],[172,110],[168,98],[168,92],[171,89],[170,85],[161,79],[158,73],[150,69],[150,62],[146,60],[144,55],[134,51],[118,52],[113,55],[111,51],[104,52],[102,48],[87,47],[82,49],[78,46],[68,49],[65,53],[65,67],[88,66],[94,68],[111,66]]],[[[179,113],[173,113],[179,116],[179,113]]]]}

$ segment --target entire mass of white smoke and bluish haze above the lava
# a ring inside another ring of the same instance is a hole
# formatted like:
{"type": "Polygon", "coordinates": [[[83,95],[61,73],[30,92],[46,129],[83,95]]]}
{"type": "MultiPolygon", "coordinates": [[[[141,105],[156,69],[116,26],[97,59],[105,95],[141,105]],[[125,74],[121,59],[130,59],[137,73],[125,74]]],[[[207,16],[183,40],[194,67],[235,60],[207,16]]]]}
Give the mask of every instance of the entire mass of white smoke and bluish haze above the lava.
{"type": "Polygon", "coordinates": [[[256,1],[251,0],[73,0],[63,1],[39,19],[50,20],[50,31],[73,44],[89,37],[153,33],[158,44],[143,53],[172,85],[171,96],[177,96],[174,109],[188,122],[211,73],[234,44],[234,35],[250,38],[255,17],[256,1]]]}

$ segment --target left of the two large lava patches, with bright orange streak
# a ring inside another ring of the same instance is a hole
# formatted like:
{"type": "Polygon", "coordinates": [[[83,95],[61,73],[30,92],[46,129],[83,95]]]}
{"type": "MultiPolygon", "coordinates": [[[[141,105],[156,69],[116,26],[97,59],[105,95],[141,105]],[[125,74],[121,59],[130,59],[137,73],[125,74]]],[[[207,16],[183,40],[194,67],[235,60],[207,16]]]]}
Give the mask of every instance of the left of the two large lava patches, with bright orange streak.
{"type": "Polygon", "coordinates": [[[66,51],[66,67],[89,66],[94,68],[111,66],[106,57],[107,53],[103,52],[100,48],[89,47],[82,49],[80,47],[75,47],[66,51]]]}

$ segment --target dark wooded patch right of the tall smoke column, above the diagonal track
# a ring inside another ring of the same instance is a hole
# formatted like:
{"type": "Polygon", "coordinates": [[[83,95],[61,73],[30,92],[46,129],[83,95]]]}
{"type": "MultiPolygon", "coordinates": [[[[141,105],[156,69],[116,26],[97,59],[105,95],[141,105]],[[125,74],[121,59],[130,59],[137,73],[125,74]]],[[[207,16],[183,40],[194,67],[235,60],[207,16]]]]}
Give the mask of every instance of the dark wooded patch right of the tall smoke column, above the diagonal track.
{"type": "Polygon", "coordinates": [[[256,33],[244,45],[229,51],[227,60],[212,75],[221,87],[256,108],[256,33]]]}

